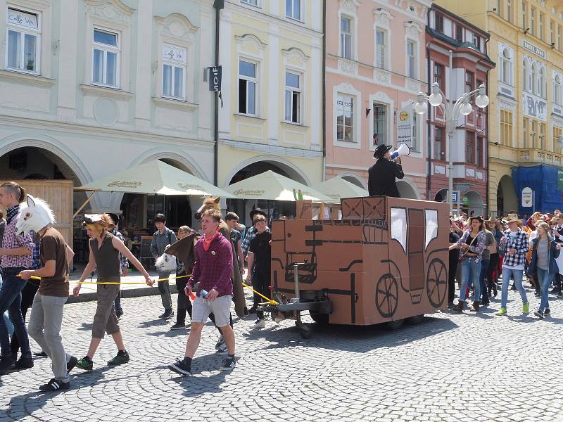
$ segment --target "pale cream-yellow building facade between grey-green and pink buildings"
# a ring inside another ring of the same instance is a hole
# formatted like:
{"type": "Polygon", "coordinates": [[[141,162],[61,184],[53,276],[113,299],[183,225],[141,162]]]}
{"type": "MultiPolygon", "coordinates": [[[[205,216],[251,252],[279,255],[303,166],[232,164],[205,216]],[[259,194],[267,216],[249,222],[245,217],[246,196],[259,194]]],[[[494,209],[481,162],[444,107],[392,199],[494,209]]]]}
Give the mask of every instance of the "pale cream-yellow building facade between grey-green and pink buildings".
{"type": "Polygon", "coordinates": [[[219,186],[266,170],[322,181],[322,36],[320,0],[225,2],[219,186]]]}

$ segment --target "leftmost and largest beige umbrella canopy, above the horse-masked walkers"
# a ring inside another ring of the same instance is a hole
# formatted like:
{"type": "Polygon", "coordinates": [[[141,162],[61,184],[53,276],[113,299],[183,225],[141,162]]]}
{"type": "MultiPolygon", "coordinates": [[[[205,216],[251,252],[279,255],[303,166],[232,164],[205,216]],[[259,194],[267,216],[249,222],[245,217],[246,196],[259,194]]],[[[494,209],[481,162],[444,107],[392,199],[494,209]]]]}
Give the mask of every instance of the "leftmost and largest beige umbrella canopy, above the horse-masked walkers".
{"type": "Polygon", "coordinates": [[[122,172],[110,174],[76,190],[234,198],[232,194],[217,186],[160,160],[145,162],[122,172]]]}

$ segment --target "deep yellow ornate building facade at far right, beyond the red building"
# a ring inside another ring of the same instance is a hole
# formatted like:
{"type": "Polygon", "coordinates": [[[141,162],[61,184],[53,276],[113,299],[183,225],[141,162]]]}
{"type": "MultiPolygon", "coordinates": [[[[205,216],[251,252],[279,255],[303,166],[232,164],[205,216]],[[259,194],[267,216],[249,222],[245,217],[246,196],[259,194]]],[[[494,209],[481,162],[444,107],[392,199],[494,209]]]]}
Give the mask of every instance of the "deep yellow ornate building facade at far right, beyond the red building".
{"type": "Polygon", "coordinates": [[[563,2],[435,3],[490,34],[487,52],[497,65],[488,79],[489,212],[522,210],[513,170],[562,165],[563,2]]]}

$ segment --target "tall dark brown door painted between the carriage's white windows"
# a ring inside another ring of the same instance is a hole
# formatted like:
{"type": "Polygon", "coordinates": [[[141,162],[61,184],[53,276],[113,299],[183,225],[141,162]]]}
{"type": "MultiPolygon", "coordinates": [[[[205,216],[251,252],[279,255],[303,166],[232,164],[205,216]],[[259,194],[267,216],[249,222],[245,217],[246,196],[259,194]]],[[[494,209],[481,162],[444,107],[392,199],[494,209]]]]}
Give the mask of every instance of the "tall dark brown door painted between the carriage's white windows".
{"type": "Polygon", "coordinates": [[[409,209],[408,216],[407,256],[412,295],[414,291],[424,289],[424,211],[409,209]]]}

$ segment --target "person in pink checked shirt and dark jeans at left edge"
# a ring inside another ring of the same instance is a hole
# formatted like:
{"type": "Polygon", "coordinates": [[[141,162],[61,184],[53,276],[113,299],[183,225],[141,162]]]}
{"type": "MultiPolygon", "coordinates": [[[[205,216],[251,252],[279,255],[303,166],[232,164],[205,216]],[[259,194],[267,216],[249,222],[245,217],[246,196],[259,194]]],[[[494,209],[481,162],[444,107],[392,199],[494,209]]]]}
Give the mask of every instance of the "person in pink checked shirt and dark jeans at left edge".
{"type": "Polygon", "coordinates": [[[8,327],[4,319],[0,318],[0,373],[11,368],[15,363],[17,369],[31,368],[33,360],[30,350],[30,339],[22,315],[22,290],[26,280],[18,279],[20,271],[32,266],[32,252],[34,243],[30,234],[15,234],[15,223],[18,222],[20,203],[25,200],[25,189],[13,181],[0,185],[0,205],[6,208],[6,226],[1,239],[1,267],[4,283],[0,288],[0,315],[8,310],[14,326],[15,335],[18,335],[22,355],[15,362],[10,347],[8,327]]]}

